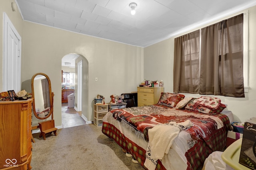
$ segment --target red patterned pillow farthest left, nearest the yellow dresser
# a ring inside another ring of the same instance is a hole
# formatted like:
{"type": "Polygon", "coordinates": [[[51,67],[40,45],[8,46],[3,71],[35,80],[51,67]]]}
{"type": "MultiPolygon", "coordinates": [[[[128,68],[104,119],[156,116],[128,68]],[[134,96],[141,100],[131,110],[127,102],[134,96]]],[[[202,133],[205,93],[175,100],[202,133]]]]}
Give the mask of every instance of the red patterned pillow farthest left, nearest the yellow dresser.
{"type": "Polygon", "coordinates": [[[167,92],[162,92],[158,104],[168,106],[168,107],[176,107],[178,102],[184,99],[183,94],[172,94],[167,92]]]}

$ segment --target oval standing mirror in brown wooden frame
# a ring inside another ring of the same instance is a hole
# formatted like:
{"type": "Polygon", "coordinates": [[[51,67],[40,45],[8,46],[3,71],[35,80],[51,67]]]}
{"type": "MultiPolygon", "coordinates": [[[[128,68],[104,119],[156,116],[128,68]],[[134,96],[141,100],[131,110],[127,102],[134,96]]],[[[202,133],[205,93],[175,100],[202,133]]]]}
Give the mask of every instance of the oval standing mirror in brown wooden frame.
{"type": "Polygon", "coordinates": [[[33,112],[38,119],[53,119],[53,94],[49,77],[44,73],[32,76],[31,90],[33,96],[33,112]]]}

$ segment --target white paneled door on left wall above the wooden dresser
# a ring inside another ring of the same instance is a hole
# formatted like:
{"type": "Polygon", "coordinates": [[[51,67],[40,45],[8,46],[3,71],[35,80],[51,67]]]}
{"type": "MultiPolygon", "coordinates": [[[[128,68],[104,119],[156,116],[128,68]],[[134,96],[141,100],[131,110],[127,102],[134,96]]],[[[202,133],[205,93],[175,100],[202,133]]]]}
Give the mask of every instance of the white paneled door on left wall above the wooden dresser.
{"type": "Polygon", "coordinates": [[[4,14],[4,57],[3,57],[3,91],[20,91],[21,82],[21,37],[4,14]]]}

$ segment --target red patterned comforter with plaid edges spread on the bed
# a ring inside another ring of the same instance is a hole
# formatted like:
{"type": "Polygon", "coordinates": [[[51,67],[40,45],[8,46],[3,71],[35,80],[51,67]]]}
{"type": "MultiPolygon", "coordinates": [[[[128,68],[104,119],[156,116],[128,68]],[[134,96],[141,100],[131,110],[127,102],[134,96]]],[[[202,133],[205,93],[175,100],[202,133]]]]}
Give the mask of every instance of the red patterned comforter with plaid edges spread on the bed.
{"type": "MultiPolygon", "coordinates": [[[[125,109],[115,109],[110,111],[103,119],[102,132],[113,138],[118,145],[144,164],[146,149],[140,147],[141,142],[134,142],[128,133],[119,127],[122,125],[132,127],[132,133],[143,134],[145,142],[148,142],[148,129],[158,124],[168,124],[170,122],[184,122],[190,120],[194,126],[185,131],[190,134],[191,139],[186,141],[189,149],[185,153],[187,158],[187,169],[202,168],[206,157],[215,150],[223,150],[226,146],[226,135],[230,128],[230,122],[226,115],[208,115],[204,113],[182,111],[172,109],[162,105],[152,105],[143,107],[132,107],[125,109]],[[119,123],[118,123],[119,122],[119,123]],[[120,135],[117,139],[116,135],[120,135]],[[126,133],[126,135],[124,135],[126,133]],[[120,142],[121,141],[121,142],[120,142]],[[132,145],[132,147],[129,147],[132,145]],[[138,150],[133,150],[133,147],[138,150]]],[[[127,127],[126,127],[127,129],[127,127]]],[[[171,160],[170,160],[171,161],[171,160]]],[[[161,161],[158,161],[156,169],[166,169],[161,161]]]]}

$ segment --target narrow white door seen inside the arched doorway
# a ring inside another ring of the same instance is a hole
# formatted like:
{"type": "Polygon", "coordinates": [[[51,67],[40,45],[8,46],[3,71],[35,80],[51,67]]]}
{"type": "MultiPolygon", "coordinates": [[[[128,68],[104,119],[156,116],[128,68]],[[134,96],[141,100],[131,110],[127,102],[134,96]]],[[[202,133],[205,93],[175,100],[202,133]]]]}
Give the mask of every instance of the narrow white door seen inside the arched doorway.
{"type": "Polygon", "coordinates": [[[77,64],[77,111],[82,111],[82,61],[77,64]]]}

